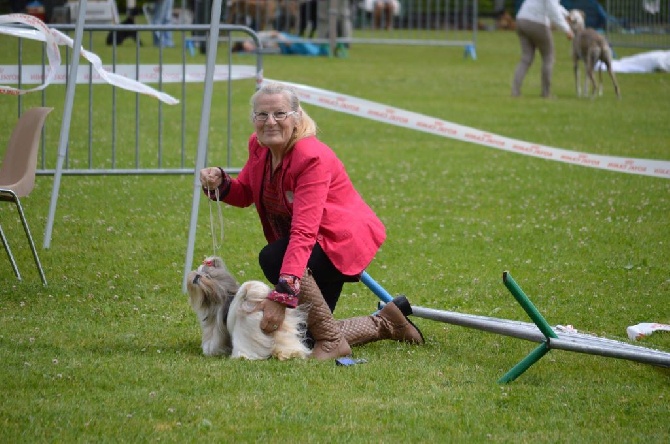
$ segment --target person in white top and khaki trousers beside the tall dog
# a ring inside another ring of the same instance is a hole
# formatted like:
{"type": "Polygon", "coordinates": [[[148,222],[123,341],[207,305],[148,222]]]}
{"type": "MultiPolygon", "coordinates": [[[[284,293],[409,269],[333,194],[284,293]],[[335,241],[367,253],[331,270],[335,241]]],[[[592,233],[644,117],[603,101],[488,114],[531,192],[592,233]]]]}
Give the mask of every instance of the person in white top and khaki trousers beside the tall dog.
{"type": "Polygon", "coordinates": [[[521,60],[512,82],[512,96],[521,95],[521,84],[533,64],[535,50],[542,57],[542,97],[551,96],[551,74],[554,69],[554,40],[551,25],[560,28],[568,40],[574,37],[566,20],[568,11],[559,0],[525,0],[516,15],[516,33],[521,43],[521,60]]]}

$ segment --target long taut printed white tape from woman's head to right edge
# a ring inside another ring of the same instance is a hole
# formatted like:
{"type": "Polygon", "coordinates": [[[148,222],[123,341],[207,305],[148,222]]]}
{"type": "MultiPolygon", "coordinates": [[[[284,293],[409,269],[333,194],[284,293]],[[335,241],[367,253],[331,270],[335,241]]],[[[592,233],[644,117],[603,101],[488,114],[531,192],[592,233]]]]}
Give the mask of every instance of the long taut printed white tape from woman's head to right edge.
{"type": "Polygon", "coordinates": [[[311,86],[289,83],[300,95],[300,100],[312,105],[340,111],[379,122],[390,123],[405,128],[436,134],[442,137],[472,142],[527,156],[540,157],[574,165],[600,168],[623,173],[670,179],[670,161],[633,159],[627,157],[601,156],[596,154],[569,151],[561,148],[538,145],[522,140],[510,139],[497,134],[487,133],[456,123],[439,120],[434,117],[385,106],[356,97],[338,94],[311,86]]]}

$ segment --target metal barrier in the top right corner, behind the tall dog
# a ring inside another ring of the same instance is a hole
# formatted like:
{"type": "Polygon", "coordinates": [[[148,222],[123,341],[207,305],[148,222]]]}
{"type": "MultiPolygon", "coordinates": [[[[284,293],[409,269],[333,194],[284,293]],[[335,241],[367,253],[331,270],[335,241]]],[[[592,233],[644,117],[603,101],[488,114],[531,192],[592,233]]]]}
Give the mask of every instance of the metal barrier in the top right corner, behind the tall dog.
{"type": "Polygon", "coordinates": [[[670,0],[607,0],[612,46],[670,49],[670,0]]]}

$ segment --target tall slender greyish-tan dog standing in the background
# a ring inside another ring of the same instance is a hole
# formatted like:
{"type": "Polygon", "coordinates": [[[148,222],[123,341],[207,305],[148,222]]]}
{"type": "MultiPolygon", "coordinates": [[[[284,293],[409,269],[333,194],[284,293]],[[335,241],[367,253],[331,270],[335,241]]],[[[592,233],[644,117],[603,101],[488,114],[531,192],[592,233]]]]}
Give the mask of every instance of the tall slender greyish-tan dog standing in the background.
{"type": "Polygon", "coordinates": [[[609,72],[612,83],[614,84],[614,92],[616,92],[618,98],[621,98],[619,84],[614,76],[614,71],[612,71],[612,50],[610,49],[607,39],[600,35],[595,29],[586,27],[586,14],[584,14],[584,11],[580,9],[572,9],[568,13],[567,19],[570,28],[574,33],[574,38],[572,39],[572,64],[575,71],[577,97],[581,97],[582,95],[582,88],[579,81],[579,61],[581,60],[584,62],[584,96],[588,95],[586,87],[587,77],[591,80],[591,97],[595,96],[596,88],[598,89],[598,95],[603,94],[602,70],[598,71],[599,82],[597,85],[596,79],[593,76],[593,70],[596,67],[596,63],[600,61],[607,67],[607,72],[609,72]]]}

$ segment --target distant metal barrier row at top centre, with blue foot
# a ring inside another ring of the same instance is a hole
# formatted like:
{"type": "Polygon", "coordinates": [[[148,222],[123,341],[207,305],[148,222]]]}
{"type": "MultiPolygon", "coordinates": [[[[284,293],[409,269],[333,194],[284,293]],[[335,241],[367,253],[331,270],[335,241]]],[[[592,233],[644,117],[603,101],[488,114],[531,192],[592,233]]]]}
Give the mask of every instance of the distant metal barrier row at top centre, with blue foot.
{"type": "MultiPolygon", "coordinates": [[[[336,18],[337,43],[462,46],[474,56],[478,0],[230,0],[225,23],[274,29],[315,43],[329,43],[319,14],[336,18]],[[388,7],[383,5],[389,5],[388,7]]],[[[209,17],[207,2],[195,1],[194,17],[209,17]]]]}

